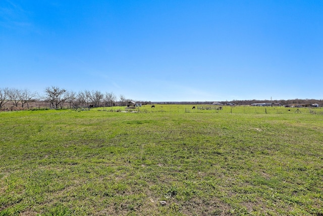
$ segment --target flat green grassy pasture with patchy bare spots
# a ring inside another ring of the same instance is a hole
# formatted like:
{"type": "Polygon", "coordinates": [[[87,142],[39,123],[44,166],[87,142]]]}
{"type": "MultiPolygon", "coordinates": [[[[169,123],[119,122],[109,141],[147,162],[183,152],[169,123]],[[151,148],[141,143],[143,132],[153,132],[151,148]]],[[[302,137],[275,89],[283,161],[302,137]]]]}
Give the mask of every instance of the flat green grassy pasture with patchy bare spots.
{"type": "Polygon", "coordinates": [[[323,215],[323,115],[139,109],[0,113],[0,215],[323,215]]]}

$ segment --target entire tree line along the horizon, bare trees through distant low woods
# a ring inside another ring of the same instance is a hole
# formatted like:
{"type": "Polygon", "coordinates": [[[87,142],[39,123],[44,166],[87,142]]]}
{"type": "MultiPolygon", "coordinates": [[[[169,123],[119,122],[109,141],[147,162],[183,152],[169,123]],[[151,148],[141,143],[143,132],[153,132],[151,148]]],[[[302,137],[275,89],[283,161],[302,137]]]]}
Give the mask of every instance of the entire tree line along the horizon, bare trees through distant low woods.
{"type": "MultiPolygon", "coordinates": [[[[100,91],[84,90],[78,93],[68,91],[60,87],[47,87],[43,95],[32,92],[28,89],[9,89],[0,87],[0,109],[8,104],[12,107],[21,107],[29,109],[31,102],[43,102],[50,108],[63,108],[63,106],[75,107],[112,107],[126,106],[132,99],[127,99],[124,95],[118,98],[113,92],[102,93],[100,91]]],[[[150,101],[137,101],[139,103],[150,104],[150,101]]],[[[211,104],[212,102],[154,102],[156,104],[211,104]]],[[[323,106],[323,100],[316,99],[292,99],[292,100],[233,100],[222,101],[222,104],[234,103],[236,105],[250,105],[253,103],[280,103],[286,104],[319,104],[323,106]]]]}

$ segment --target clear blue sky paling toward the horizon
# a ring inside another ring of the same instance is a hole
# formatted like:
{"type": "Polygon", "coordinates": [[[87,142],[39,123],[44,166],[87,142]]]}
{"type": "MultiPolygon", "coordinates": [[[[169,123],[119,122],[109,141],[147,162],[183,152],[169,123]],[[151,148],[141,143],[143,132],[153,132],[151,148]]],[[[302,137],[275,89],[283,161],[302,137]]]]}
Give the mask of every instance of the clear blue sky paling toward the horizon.
{"type": "Polygon", "coordinates": [[[0,1],[0,88],[323,99],[323,1],[0,1]]]}

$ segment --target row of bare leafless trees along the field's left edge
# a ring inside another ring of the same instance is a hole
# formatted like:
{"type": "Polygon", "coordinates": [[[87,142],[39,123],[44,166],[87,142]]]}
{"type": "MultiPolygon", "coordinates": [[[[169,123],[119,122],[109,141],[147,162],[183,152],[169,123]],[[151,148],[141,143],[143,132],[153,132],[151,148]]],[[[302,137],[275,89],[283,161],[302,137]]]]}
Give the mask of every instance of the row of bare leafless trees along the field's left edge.
{"type": "MultiPolygon", "coordinates": [[[[126,106],[132,100],[127,99],[124,95],[117,98],[113,92],[102,93],[100,91],[84,90],[76,93],[54,86],[47,87],[43,95],[27,89],[0,88],[0,108],[11,103],[12,107],[20,106],[29,109],[29,103],[35,101],[42,101],[50,108],[59,109],[63,108],[63,106],[69,106],[70,108],[126,106]]],[[[140,103],[148,104],[150,102],[140,101],[140,103]]]]}

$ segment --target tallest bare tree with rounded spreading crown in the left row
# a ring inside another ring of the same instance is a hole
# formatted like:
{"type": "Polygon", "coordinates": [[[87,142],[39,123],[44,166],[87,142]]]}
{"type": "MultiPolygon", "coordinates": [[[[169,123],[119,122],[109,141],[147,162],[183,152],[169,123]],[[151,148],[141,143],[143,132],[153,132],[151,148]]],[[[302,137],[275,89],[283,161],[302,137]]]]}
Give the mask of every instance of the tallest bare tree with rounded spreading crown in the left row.
{"type": "Polygon", "coordinates": [[[59,106],[63,108],[64,102],[70,97],[65,89],[59,87],[47,87],[45,89],[45,101],[47,101],[52,108],[58,109],[59,106]]]}

